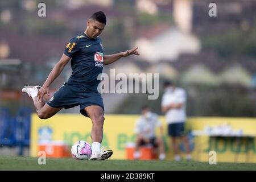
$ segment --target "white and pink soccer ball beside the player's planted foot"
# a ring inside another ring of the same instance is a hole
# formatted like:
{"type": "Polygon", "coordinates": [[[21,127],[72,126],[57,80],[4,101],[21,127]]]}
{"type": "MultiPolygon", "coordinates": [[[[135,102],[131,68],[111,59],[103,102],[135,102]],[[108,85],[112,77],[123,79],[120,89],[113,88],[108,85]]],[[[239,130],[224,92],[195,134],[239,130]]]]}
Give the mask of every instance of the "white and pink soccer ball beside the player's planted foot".
{"type": "Polygon", "coordinates": [[[80,140],[73,144],[71,154],[74,159],[88,160],[92,155],[92,148],[88,142],[80,140]]]}

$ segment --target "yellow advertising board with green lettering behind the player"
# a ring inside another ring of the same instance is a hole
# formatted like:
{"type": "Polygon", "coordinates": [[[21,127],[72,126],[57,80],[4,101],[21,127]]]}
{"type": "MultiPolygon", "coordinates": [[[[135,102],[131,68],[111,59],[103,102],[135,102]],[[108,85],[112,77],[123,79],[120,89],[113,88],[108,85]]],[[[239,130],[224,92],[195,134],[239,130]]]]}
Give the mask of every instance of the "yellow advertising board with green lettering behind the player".
{"type": "MultiPolygon", "coordinates": [[[[111,159],[126,159],[126,144],[134,142],[134,126],[139,117],[139,115],[105,115],[102,146],[114,151],[111,159]]],[[[162,116],[160,121],[162,121],[165,131],[164,145],[167,160],[173,160],[170,139],[167,137],[167,124],[162,116]]],[[[242,129],[243,134],[254,137],[209,137],[208,135],[195,136],[189,133],[193,160],[208,162],[209,151],[216,151],[218,162],[256,163],[256,119],[188,118],[186,128],[189,131],[203,131],[205,126],[214,127],[222,123],[229,123],[233,129],[242,129]]],[[[39,119],[36,114],[32,114],[30,154],[34,157],[37,156],[38,144],[47,141],[61,141],[69,146],[72,146],[77,140],[86,140],[91,143],[91,127],[90,119],[80,114],[57,114],[46,120],[39,119]]],[[[180,143],[181,155],[184,156],[183,148],[180,143]]]]}

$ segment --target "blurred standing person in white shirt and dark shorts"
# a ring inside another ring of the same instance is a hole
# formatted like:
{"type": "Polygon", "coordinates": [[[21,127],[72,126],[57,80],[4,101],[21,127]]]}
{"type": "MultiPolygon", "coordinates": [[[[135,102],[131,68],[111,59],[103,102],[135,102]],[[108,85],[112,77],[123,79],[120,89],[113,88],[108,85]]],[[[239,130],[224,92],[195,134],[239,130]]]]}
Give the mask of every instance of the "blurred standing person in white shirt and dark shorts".
{"type": "Polygon", "coordinates": [[[176,88],[171,81],[164,82],[164,94],[162,97],[162,111],[165,113],[168,123],[168,135],[171,138],[171,145],[174,149],[175,161],[180,161],[179,146],[177,139],[181,138],[184,142],[186,159],[191,160],[189,142],[184,133],[186,117],[187,95],[184,89],[176,88]]]}

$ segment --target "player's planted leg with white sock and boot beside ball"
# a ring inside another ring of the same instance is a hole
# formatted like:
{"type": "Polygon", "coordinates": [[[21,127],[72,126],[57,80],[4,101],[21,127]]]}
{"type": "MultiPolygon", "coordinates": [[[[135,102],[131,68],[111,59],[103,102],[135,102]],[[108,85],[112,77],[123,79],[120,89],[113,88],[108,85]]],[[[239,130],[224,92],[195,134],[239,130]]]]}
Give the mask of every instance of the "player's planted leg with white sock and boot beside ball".
{"type": "Polygon", "coordinates": [[[89,160],[105,160],[112,156],[112,150],[101,151],[101,142],[103,138],[104,110],[101,106],[92,105],[84,109],[92,120],[92,156],[89,160]]]}

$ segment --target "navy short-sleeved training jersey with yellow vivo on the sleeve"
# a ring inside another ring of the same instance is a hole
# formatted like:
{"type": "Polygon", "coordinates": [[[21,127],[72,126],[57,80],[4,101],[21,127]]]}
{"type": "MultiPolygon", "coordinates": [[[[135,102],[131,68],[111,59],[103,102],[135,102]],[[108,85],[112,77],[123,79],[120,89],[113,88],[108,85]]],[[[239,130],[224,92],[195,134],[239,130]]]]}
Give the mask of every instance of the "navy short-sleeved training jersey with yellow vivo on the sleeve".
{"type": "Polygon", "coordinates": [[[90,39],[82,32],[72,38],[64,54],[72,57],[72,75],[69,77],[68,85],[80,85],[86,91],[96,91],[101,80],[97,77],[102,73],[104,66],[103,46],[99,36],[90,39]]]}

